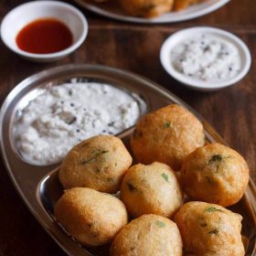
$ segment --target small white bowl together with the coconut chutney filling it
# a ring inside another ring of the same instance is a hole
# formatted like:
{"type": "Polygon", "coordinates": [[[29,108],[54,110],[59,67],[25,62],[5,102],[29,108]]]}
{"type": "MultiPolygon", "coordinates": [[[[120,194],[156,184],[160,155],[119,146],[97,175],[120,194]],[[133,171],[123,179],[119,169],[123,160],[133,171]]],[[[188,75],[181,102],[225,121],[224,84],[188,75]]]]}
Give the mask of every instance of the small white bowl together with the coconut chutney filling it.
{"type": "Polygon", "coordinates": [[[197,91],[216,91],[236,84],[251,67],[245,43],[215,27],[176,32],[165,40],[160,60],[170,76],[197,91]]]}

